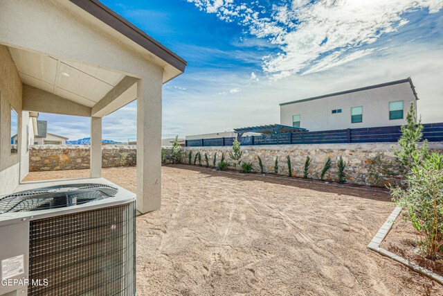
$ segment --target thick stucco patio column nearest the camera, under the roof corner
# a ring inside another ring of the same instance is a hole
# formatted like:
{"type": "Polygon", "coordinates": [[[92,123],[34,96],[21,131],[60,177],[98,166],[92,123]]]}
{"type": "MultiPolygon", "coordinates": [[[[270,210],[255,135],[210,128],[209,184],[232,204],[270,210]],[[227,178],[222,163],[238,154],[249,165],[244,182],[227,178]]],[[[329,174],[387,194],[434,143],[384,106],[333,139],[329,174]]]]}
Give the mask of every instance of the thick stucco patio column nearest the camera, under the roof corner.
{"type": "Polygon", "coordinates": [[[137,82],[137,210],[161,207],[162,73],[137,82]]]}

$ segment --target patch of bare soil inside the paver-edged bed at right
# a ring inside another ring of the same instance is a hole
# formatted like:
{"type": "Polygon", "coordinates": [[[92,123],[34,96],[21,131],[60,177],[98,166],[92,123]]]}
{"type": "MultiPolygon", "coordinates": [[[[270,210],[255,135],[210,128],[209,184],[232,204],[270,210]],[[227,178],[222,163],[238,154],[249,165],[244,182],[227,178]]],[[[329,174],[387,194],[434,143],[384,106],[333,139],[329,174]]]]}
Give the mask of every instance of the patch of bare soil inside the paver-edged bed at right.
{"type": "Polygon", "coordinates": [[[381,243],[381,247],[443,276],[443,259],[431,260],[420,256],[419,247],[415,242],[414,227],[410,222],[405,221],[404,215],[401,213],[395,220],[395,224],[381,243]]]}

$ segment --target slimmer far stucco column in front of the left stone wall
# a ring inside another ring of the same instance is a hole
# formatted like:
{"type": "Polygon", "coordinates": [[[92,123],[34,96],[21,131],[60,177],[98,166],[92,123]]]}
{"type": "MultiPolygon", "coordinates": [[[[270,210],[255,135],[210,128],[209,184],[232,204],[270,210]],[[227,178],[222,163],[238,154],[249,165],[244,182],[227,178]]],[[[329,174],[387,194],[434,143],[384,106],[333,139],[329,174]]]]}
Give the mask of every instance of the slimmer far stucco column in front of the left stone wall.
{"type": "Polygon", "coordinates": [[[91,177],[102,177],[102,118],[91,117],[91,177]]]}

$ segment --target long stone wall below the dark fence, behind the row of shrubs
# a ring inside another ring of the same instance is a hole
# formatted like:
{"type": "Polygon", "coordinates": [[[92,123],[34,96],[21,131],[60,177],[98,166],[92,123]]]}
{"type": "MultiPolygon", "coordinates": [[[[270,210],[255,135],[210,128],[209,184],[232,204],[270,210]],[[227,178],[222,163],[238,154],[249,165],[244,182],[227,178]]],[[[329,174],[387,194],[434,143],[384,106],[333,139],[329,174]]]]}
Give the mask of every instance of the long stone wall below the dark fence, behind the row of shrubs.
{"type": "MultiPolygon", "coordinates": [[[[429,147],[441,150],[443,149],[443,143],[429,143],[429,147]]],[[[217,153],[217,164],[220,162],[222,153],[224,153],[227,162],[232,162],[232,159],[229,158],[229,152],[232,151],[231,147],[186,147],[183,148],[181,158],[183,164],[188,164],[189,151],[192,151],[192,164],[197,152],[201,153],[203,166],[206,165],[204,162],[205,153],[208,154],[211,167],[215,153],[217,153]]],[[[320,173],[327,157],[331,157],[332,168],[326,174],[325,179],[332,181],[337,179],[336,163],[338,157],[342,156],[347,164],[345,169],[347,182],[366,185],[374,185],[370,180],[368,172],[368,164],[371,162],[372,157],[380,153],[386,159],[395,159],[394,153],[392,153],[392,143],[242,146],[242,151],[242,161],[251,162],[255,172],[260,172],[257,156],[260,156],[262,159],[265,173],[273,173],[275,157],[278,157],[278,173],[280,175],[288,175],[287,156],[289,155],[291,157],[292,175],[296,177],[303,177],[306,157],[309,155],[311,157],[309,176],[315,179],[320,179],[320,173]]],[[[232,169],[233,166],[230,166],[230,168],[232,169]]],[[[397,176],[386,181],[395,182],[395,180],[400,178],[401,176],[397,176]]]]}

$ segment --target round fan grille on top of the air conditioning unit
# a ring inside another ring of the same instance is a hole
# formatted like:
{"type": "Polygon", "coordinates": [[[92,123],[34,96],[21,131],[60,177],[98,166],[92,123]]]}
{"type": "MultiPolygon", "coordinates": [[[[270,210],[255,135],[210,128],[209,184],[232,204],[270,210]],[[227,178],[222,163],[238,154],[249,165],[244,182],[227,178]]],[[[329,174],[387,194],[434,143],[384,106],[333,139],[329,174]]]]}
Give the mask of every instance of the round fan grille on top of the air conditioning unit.
{"type": "Polygon", "coordinates": [[[0,214],[71,207],[109,198],[117,192],[105,184],[64,184],[21,191],[0,198],[0,214]]]}

